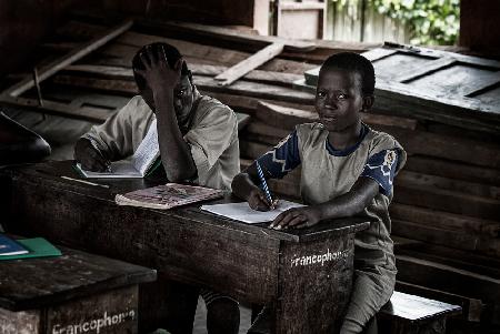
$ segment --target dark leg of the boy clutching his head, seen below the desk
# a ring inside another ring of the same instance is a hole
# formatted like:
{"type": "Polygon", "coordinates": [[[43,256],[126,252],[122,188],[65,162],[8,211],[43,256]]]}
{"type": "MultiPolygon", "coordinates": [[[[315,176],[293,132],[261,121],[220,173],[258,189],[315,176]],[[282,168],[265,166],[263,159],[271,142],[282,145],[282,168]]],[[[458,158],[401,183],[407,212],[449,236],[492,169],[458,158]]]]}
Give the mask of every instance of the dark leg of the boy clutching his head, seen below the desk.
{"type": "Polygon", "coordinates": [[[238,334],[240,307],[233,298],[202,289],[200,292],[207,305],[207,331],[209,334],[238,334]]]}

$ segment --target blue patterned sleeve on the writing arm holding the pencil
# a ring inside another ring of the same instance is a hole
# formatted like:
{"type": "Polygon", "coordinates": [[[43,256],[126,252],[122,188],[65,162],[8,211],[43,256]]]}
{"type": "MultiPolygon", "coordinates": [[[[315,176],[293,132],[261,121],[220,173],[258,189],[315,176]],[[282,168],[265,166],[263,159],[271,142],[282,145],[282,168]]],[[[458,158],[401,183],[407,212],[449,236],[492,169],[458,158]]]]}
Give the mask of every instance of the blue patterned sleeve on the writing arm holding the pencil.
{"type": "Polygon", "coordinates": [[[284,138],[278,145],[258,159],[264,174],[281,179],[300,164],[299,138],[297,130],[284,138]]]}

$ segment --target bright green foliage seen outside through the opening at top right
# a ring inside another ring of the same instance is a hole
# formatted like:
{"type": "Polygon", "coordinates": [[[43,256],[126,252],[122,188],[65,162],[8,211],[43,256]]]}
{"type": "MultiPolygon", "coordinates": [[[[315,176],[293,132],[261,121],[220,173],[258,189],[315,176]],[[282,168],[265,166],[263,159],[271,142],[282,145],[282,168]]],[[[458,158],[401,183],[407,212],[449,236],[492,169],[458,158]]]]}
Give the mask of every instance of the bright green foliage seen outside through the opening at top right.
{"type": "MultiPolygon", "coordinates": [[[[332,0],[358,6],[361,0],[332,0]]],[[[408,24],[411,43],[454,44],[460,27],[460,0],[367,0],[379,13],[408,24]]]]}

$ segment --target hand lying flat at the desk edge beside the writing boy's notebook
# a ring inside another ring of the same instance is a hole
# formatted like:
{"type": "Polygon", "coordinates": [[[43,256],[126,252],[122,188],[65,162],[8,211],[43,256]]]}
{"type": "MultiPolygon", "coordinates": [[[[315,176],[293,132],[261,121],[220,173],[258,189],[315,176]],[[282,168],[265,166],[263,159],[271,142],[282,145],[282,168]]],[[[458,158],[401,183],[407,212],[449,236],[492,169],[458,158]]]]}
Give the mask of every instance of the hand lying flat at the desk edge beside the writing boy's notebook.
{"type": "Polygon", "coordinates": [[[280,213],[269,227],[274,230],[310,227],[320,220],[321,213],[314,206],[292,208],[280,213]]]}

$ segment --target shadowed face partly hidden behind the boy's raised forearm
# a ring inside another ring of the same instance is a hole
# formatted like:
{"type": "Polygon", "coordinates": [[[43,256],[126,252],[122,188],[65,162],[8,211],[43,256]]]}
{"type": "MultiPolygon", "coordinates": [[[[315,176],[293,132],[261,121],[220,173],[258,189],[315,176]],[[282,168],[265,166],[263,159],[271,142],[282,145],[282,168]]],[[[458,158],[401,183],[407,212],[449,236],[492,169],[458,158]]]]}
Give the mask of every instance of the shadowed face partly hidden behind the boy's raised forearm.
{"type": "MultiPolygon", "coordinates": [[[[140,91],[142,99],[148,103],[149,108],[156,112],[154,97],[152,90],[147,85],[140,91]]],[[[177,121],[183,124],[191,112],[193,103],[193,87],[188,75],[182,75],[180,82],[173,89],[173,109],[176,110],[177,121]]]]}

